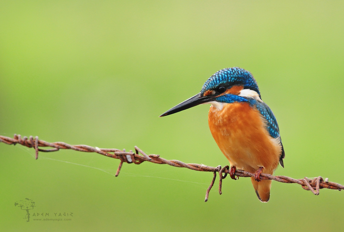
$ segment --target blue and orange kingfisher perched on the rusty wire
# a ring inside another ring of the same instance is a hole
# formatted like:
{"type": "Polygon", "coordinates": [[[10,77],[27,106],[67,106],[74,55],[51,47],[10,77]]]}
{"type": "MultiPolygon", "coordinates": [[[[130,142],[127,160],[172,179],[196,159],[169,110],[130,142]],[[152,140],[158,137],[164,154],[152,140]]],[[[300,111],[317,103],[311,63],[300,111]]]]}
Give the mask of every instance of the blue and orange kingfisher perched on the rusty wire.
{"type": "Polygon", "coordinates": [[[222,69],[203,84],[200,93],[160,117],[200,104],[211,104],[209,129],[230,163],[230,177],[237,179],[236,169],[255,173],[251,182],[257,197],[268,202],[272,181],[261,180],[260,174],[273,174],[278,164],[284,168],[285,154],[275,115],[262,101],[253,75],[238,67],[222,69]]]}

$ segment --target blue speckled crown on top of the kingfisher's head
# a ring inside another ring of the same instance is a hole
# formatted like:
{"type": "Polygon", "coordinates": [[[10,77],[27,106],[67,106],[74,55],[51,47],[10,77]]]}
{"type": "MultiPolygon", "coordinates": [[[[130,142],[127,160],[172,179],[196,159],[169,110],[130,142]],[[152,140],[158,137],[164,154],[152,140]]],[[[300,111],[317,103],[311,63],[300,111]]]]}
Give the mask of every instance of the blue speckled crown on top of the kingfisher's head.
{"type": "Polygon", "coordinates": [[[253,75],[238,67],[222,69],[212,75],[203,85],[201,94],[207,90],[216,89],[219,85],[230,87],[233,85],[243,85],[244,89],[251,89],[259,94],[258,84],[253,75]]]}

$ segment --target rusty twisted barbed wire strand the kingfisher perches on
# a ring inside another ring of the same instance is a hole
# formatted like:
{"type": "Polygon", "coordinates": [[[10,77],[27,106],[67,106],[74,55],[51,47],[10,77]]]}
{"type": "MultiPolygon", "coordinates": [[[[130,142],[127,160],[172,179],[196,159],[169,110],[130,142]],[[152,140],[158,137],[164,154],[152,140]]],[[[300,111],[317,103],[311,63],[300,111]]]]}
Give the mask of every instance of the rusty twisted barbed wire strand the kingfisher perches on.
{"type": "MultiPolygon", "coordinates": [[[[213,180],[211,184],[209,185],[209,188],[206,191],[205,194],[205,202],[208,201],[209,192],[212,189],[215,179],[216,179],[216,173],[219,174],[219,194],[222,194],[222,180],[226,178],[227,174],[229,173],[229,166],[226,165],[225,167],[221,167],[221,165],[215,167],[207,166],[204,164],[196,164],[196,163],[184,163],[179,160],[166,160],[164,158],[161,158],[160,155],[156,154],[150,154],[147,155],[144,153],[141,149],[135,146],[135,153],[131,150],[129,152],[126,152],[126,150],[119,150],[119,149],[106,149],[106,148],[97,148],[97,147],[91,147],[88,145],[70,145],[65,142],[55,142],[55,143],[49,143],[44,140],[39,140],[38,136],[33,138],[30,136],[29,138],[24,136],[23,138],[21,135],[14,134],[13,138],[0,135],[0,142],[6,143],[6,144],[21,144],[23,146],[26,146],[28,148],[34,148],[36,152],[35,158],[38,159],[38,152],[53,152],[58,151],[60,149],[72,149],[75,151],[82,151],[82,152],[96,152],[101,155],[105,155],[107,157],[119,159],[120,163],[116,172],[115,176],[119,175],[119,172],[121,171],[122,165],[124,162],[126,163],[135,163],[140,164],[144,161],[152,162],[152,163],[158,163],[158,164],[168,164],[173,167],[179,167],[179,168],[188,168],[195,171],[201,171],[201,172],[213,172],[213,180]],[[39,147],[50,147],[52,149],[40,149],[39,147]],[[113,154],[111,154],[111,153],[113,154]],[[140,155],[140,154],[141,155],[140,155]]],[[[251,173],[244,170],[236,170],[234,173],[235,176],[240,177],[254,177],[255,173],[251,173]]],[[[338,183],[329,182],[329,179],[326,178],[325,180],[321,177],[315,177],[315,178],[303,178],[303,179],[293,179],[288,176],[278,175],[273,176],[266,173],[260,174],[261,180],[274,180],[281,183],[295,183],[300,184],[304,190],[310,190],[314,195],[319,195],[320,189],[334,189],[341,191],[344,189],[344,186],[338,183]]]]}

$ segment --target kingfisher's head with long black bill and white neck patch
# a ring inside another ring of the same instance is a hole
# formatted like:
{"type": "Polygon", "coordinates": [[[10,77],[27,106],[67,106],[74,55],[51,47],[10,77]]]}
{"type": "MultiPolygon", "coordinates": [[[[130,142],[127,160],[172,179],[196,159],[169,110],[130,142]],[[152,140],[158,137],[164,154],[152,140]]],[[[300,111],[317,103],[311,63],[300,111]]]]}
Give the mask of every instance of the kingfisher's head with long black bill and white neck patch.
{"type": "Polygon", "coordinates": [[[203,84],[200,93],[176,105],[161,114],[160,117],[200,104],[232,103],[247,98],[261,99],[258,85],[253,75],[249,71],[238,67],[222,69],[203,84]]]}

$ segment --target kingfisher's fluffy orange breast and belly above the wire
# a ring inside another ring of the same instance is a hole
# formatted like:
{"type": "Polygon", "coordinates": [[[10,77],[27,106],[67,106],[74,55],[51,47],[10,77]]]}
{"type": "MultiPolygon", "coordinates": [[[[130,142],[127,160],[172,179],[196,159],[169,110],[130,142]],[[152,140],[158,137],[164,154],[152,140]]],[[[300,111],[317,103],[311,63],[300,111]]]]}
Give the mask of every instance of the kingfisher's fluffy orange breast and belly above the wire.
{"type": "Polygon", "coordinates": [[[213,105],[209,110],[210,131],[232,166],[249,172],[264,167],[272,174],[278,166],[281,147],[266,130],[266,121],[248,103],[213,105]]]}

